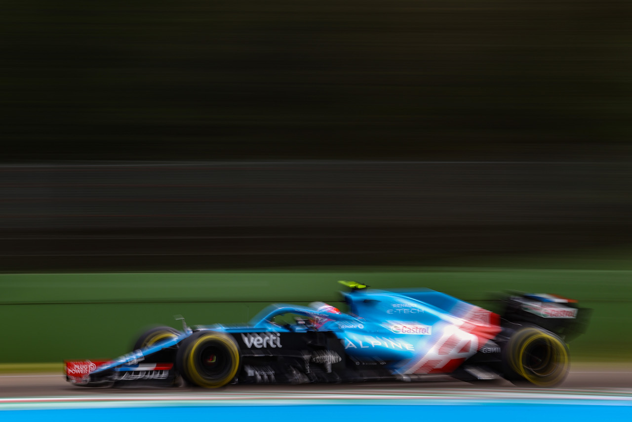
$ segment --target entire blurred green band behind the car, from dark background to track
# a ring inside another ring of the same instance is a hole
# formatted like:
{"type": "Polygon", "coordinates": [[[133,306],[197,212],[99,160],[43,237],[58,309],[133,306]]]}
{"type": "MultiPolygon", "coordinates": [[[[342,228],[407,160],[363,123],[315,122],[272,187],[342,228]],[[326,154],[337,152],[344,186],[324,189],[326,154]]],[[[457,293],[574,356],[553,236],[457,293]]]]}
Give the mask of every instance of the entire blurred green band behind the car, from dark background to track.
{"type": "Polygon", "coordinates": [[[109,359],[147,325],[246,322],[270,302],[338,302],[336,280],[428,287],[485,306],[492,292],[549,292],[593,309],[574,359],[632,361],[632,270],[374,268],[344,271],[0,275],[0,362],[109,359]]]}

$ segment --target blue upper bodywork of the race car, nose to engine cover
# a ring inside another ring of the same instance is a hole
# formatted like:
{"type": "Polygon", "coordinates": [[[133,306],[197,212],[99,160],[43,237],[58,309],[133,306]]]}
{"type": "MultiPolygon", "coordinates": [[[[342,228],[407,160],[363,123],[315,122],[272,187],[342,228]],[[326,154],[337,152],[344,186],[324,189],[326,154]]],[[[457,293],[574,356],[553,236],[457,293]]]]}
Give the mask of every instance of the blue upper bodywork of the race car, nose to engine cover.
{"type": "MultiPolygon", "coordinates": [[[[500,331],[489,320],[489,311],[434,290],[397,292],[363,289],[343,295],[349,313],[325,313],[307,306],[274,304],[265,307],[246,325],[197,326],[195,331],[233,334],[330,332],[339,339],[344,354],[351,359],[379,362],[394,374],[419,371],[425,357],[433,354],[436,355],[433,362],[437,363],[428,367],[427,372],[441,369],[441,365],[445,366],[454,359],[465,360],[500,331]],[[491,328],[487,336],[481,337],[471,330],[461,329],[468,323],[471,325],[472,317],[477,313],[488,318],[487,321],[478,321],[491,328]],[[304,320],[286,325],[274,322],[277,316],[284,314],[293,314],[304,320]],[[325,323],[316,329],[309,322],[313,320],[325,320],[325,323]]],[[[94,373],[136,364],[146,356],[177,345],[191,333],[187,329],[178,337],[121,356],[100,366],[94,373]]]]}

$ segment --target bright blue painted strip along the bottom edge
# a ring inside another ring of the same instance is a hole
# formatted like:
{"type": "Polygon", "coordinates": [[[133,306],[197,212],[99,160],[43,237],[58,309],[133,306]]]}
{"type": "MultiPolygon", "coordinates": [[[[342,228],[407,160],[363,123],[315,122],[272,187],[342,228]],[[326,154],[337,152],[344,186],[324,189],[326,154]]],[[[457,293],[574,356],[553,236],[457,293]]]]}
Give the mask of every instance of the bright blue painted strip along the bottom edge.
{"type": "Polygon", "coordinates": [[[384,422],[389,420],[468,422],[502,421],[533,422],[551,419],[573,422],[595,422],[600,420],[632,420],[632,406],[566,405],[566,404],[492,404],[492,405],[381,405],[370,406],[332,404],[301,406],[190,406],[190,407],[128,407],[100,409],[28,409],[0,411],[3,422],[28,421],[75,421],[90,422],[138,422],[139,420],[198,420],[212,417],[214,420],[244,420],[257,422],[279,422],[318,417],[336,420],[358,420],[362,422],[384,422]],[[414,418],[414,419],[413,419],[414,418]]]}

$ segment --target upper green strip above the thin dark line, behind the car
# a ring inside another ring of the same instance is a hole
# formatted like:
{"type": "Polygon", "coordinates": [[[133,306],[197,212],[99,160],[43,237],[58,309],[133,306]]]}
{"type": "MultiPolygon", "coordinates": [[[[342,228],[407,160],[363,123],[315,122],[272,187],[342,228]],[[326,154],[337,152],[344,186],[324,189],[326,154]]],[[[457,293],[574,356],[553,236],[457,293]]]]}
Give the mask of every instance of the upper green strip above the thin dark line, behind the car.
{"type": "Polygon", "coordinates": [[[0,304],[309,302],[339,300],[337,280],[375,289],[428,287],[467,301],[490,292],[554,292],[581,301],[632,301],[632,270],[422,268],[370,271],[279,271],[0,275],[0,304]]]}

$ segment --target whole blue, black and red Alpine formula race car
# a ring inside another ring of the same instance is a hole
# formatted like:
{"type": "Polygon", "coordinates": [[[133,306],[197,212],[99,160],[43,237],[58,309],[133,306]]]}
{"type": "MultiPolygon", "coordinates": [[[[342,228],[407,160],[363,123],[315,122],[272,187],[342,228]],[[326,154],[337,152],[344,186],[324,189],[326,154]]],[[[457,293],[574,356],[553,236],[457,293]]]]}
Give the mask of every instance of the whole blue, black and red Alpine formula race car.
{"type": "Polygon", "coordinates": [[[567,342],[586,326],[576,302],[507,296],[492,313],[434,290],[371,290],[355,282],[349,313],[322,302],[274,304],[247,325],[145,332],[114,361],[66,361],[66,380],[86,387],[229,383],[465,381],[506,378],[550,387],[569,369],[567,342]],[[291,316],[289,323],[281,318],[291,316]]]}

